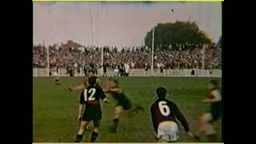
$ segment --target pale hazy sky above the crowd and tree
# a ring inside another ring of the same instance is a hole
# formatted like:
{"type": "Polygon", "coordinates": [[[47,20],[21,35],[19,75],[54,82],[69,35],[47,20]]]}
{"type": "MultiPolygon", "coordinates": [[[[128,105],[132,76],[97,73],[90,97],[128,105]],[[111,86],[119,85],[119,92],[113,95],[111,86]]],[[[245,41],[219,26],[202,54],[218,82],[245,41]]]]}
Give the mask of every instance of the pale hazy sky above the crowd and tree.
{"type": "Polygon", "coordinates": [[[159,22],[196,22],[214,42],[222,35],[221,2],[33,2],[33,43],[141,46],[159,22]],[[171,10],[174,10],[172,12],[171,10]]]}

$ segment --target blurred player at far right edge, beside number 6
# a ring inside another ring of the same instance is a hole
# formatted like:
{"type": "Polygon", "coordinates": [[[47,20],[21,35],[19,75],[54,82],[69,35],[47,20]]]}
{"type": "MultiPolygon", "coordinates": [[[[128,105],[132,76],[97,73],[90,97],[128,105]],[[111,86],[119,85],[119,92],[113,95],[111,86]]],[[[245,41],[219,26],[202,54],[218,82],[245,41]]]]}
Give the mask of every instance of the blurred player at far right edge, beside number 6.
{"type": "Polygon", "coordinates": [[[199,132],[210,138],[210,141],[216,141],[217,132],[214,130],[214,122],[222,116],[222,96],[218,90],[218,81],[211,80],[208,84],[208,98],[201,101],[209,103],[209,112],[202,114],[199,119],[199,132]]]}

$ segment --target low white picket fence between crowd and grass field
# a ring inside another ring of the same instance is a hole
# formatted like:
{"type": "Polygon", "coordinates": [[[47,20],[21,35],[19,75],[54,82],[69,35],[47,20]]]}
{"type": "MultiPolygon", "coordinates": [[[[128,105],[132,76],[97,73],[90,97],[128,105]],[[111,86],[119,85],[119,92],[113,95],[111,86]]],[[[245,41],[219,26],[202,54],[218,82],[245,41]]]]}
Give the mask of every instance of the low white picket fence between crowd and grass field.
{"type": "MultiPolygon", "coordinates": [[[[107,70],[107,76],[114,76],[114,70],[107,70]]],[[[61,77],[67,77],[69,74],[66,74],[66,69],[60,69],[59,75],[61,77]]],[[[98,76],[102,76],[102,70],[98,70],[98,76]]],[[[47,69],[33,69],[33,77],[48,77],[47,69]]],[[[80,70],[80,74],[77,73],[77,70],[74,74],[75,77],[84,76],[83,70],[80,70]]],[[[191,75],[191,70],[163,70],[161,73],[160,70],[154,70],[154,75],[152,75],[151,70],[144,69],[134,69],[130,70],[130,77],[222,77],[222,70],[194,70],[194,75],[191,75]],[[210,74],[211,71],[211,74],[210,74]]]]}

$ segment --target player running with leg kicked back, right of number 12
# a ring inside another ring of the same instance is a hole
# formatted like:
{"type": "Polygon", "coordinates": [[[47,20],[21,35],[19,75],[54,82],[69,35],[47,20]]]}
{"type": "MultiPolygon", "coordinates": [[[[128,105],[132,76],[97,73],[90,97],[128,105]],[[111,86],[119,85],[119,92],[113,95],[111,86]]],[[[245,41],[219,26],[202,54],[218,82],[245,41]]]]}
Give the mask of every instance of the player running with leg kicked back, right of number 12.
{"type": "Polygon", "coordinates": [[[118,130],[119,115],[123,110],[130,115],[137,114],[138,110],[143,110],[142,106],[135,106],[132,108],[130,100],[124,94],[124,91],[118,85],[118,80],[110,78],[110,88],[104,90],[106,93],[110,93],[112,97],[117,101],[117,105],[114,107],[114,126],[111,128],[111,131],[116,133],[118,130]]]}

